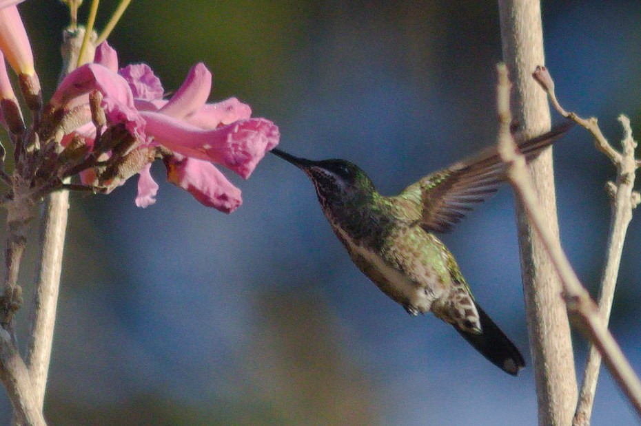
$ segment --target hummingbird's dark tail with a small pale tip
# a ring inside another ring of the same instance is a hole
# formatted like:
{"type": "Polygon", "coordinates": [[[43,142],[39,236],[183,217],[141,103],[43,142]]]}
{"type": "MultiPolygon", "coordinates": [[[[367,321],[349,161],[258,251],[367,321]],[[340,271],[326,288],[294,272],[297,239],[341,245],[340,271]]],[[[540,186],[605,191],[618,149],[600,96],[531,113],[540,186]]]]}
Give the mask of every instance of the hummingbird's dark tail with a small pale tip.
{"type": "Polygon", "coordinates": [[[514,343],[507,338],[504,332],[490,319],[490,317],[476,305],[481,326],[480,333],[463,330],[454,324],[456,331],[465,337],[478,352],[501,370],[516,376],[521,368],[525,367],[525,360],[514,343]]]}

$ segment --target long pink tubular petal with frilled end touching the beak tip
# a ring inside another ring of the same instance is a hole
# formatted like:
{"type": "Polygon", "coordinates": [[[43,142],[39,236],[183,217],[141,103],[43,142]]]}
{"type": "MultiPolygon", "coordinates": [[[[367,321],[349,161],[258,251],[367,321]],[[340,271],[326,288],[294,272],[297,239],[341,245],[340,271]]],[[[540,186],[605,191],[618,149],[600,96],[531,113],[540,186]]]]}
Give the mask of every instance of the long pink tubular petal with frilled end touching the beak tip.
{"type": "Polygon", "coordinates": [[[265,152],[278,144],[278,127],[264,118],[240,120],[214,130],[203,130],[163,114],[143,111],[145,134],[184,156],[223,164],[249,178],[265,152]]]}

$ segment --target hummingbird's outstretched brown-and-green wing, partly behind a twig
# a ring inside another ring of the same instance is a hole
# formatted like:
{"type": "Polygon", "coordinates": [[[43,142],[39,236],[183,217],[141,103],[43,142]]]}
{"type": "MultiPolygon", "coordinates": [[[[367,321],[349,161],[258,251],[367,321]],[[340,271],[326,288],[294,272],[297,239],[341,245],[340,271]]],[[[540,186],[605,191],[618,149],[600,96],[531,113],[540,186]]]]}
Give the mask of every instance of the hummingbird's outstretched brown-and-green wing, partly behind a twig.
{"type": "MultiPolygon", "coordinates": [[[[567,121],[536,138],[518,142],[527,160],[535,158],[545,147],[564,134],[573,123],[567,121]]],[[[472,205],[496,192],[506,178],[506,167],[496,146],[477,156],[456,162],[411,184],[396,200],[403,202],[410,220],[418,220],[428,232],[446,233],[460,222],[472,205]]]]}

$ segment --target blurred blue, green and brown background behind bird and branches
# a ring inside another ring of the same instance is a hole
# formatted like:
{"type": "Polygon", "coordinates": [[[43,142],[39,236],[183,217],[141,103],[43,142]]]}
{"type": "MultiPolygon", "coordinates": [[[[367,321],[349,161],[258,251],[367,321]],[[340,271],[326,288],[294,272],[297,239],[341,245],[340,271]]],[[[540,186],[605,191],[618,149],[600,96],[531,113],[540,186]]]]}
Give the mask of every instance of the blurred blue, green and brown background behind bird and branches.
{"type": "MultiPolygon", "coordinates": [[[[101,3],[99,28],[115,3],[101,3]]],[[[50,95],[67,12],[37,0],[20,10],[50,95]]],[[[598,116],[614,144],[615,118],[629,114],[638,136],[641,3],[545,1],[542,10],[546,65],[564,107],[598,116]]],[[[110,42],[121,65],[148,63],[166,90],[204,61],[210,100],[238,96],[281,127],[283,149],[352,160],[385,194],[494,143],[494,2],[137,0],[110,42]]],[[[573,129],[556,145],[555,168],[562,243],[594,293],[613,167],[573,129]]],[[[134,206],[136,182],[108,196],[72,195],[45,404],[52,424],[536,424],[509,188],[443,240],[524,352],[529,368],[517,378],[451,327],[411,318],[378,291],[291,165],[267,156],[250,180],[227,173],[244,198],[232,215],[164,182],[163,167],[152,173],[161,188],[147,209],[134,206]]],[[[611,328],[637,371],[640,248],[635,217],[611,328]]],[[[23,343],[28,314],[26,306],[18,319],[23,343]]],[[[580,374],[582,337],[575,348],[580,374]]],[[[635,419],[604,372],[593,424],[635,419]]]]}

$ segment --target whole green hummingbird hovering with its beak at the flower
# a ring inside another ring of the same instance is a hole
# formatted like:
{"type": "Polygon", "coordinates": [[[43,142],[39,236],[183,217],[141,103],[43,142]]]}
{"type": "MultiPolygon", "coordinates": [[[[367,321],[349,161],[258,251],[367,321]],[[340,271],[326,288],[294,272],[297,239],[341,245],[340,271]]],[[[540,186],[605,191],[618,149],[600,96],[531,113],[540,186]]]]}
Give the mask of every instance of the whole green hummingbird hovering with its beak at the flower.
{"type": "MultiPolygon", "coordinates": [[[[535,138],[516,136],[526,160],[564,134],[566,122],[535,138]]],[[[281,149],[276,156],[312,180],[327,221],[356,266],[413,316],[432,312],[454,326],[480,354],[516,376],[525,367],[518,348],[479,306],[456,259],[437,233],[451,231],[471,206],[507,179],[495,147],[435,171],[398,195],[376,191],[347,160],[307,160],[281,149]]]]}

